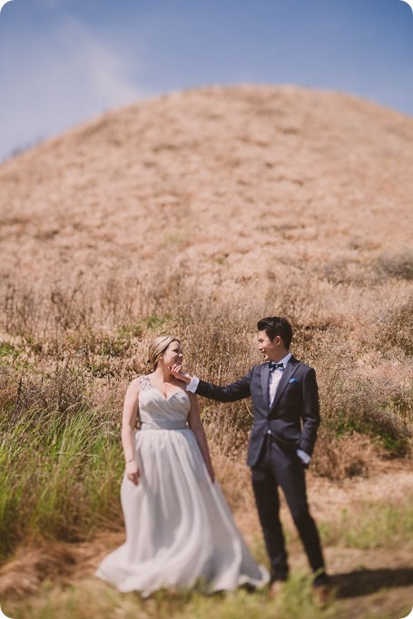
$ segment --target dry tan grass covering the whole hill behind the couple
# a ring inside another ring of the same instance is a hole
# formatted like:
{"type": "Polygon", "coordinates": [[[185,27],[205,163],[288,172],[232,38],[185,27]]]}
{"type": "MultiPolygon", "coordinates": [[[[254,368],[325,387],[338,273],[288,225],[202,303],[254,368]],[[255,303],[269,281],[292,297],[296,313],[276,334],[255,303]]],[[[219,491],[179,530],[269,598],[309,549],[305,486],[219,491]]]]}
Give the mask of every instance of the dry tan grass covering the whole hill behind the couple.
{"type": "MultiPolygon", "coordinates": [[[[0,487],[4,557],[41,545],[41,527],[59,544],[122,526],[123,393],[159,333],[225,383],[259,362],[257,319],[285,315],[320,384],[313,473],[345,483],[409,457],[412,143],[411,119],[349,96],[216,87],[106,113],[0,166],[1,446],[22,455],[0,487]],[[53,510],[36,493],[59,456],[47,441],[68,431],[79,459],[53,510]],[[91,451],[113,458],[104,505],[91,451]]],[[[202,415],[254,543],[251,405],[202,401],[202,415]]]]}

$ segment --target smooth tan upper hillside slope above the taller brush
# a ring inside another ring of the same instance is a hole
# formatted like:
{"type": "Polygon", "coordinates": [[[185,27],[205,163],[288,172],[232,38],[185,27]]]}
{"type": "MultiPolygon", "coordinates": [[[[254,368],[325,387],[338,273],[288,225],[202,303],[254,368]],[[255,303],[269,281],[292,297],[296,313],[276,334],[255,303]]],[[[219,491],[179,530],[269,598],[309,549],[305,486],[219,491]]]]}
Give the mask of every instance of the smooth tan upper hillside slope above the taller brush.
{"type": "Polygon", "coordinates": [[[411,241],[412,165],[413,120],[346,94],[171,93],[0,167],[0,274],[45,287],[173,268],[218,296],[375,283],[411,241]]]}

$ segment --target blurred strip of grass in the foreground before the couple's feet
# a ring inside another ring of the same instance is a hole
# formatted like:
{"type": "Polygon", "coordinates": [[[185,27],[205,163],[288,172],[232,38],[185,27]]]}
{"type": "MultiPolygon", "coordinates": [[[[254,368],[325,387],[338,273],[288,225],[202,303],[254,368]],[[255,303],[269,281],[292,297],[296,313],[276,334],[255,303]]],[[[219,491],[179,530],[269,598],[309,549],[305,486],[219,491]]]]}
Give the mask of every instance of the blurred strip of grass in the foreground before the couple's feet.
{"type": "Polygon", "coordinates": [[[211,596],[160,591],[143,600],[138,594],[121,594],[109,585],[90,579],[68,587],[46,582],[35,597],[9,601],[2,608],[13,619],[211,619],[211,616],[214,619],[332,619],[337,616],[334,602],[320,610],[310,589],[310,578],[297,573],[273,601],[267,599],[265,592],[244,590],[211,596]]]}

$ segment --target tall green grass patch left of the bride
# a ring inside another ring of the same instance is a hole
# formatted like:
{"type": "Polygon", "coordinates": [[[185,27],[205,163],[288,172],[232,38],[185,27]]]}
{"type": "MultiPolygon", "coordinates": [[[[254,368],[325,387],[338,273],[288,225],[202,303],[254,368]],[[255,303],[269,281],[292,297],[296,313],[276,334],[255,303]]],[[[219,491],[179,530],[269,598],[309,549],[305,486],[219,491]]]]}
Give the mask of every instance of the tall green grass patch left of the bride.
{"type": "Polygon", "coordinates": [[[32,409],[0,416],[0,556],[25,535],[84,538],[103,519],[120,522],[119,432],[96,410],[32,409]]]}

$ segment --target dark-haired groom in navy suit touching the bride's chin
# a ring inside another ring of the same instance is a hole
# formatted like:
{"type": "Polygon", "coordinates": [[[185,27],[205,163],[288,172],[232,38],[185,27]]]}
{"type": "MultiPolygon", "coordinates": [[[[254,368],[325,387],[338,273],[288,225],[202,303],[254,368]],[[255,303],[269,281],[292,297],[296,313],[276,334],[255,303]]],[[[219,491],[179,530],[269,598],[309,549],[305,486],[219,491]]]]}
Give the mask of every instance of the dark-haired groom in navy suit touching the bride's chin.
{"type": "Polygon", "coordinates": [[[176,378],[188,383],[189,391],[205,398],[234,402],[251,396],[254,422],[247,464],[270,557],[271,594],[279,592],[289,574],[280,523],[280,487],[314,573],[314,587],[324,600],[328,576],[319,533],[310,516],[304,474],[320,425],[316,375],[314,369],[291,355],[292,329],[287,319],[264,318],[258,321],[257,329],[264,362],[226,387],[173,370],[176,378]]]}

